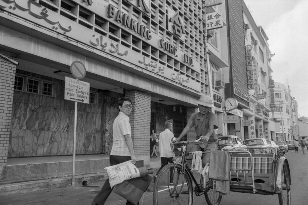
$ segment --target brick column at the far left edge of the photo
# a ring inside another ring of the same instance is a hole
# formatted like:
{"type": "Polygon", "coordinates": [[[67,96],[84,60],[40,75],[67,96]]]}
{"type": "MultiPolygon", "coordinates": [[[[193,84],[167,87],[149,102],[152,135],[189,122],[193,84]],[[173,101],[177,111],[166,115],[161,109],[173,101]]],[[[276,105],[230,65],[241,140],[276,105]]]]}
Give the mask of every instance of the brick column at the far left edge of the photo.
{"type": "Polygon", "coordinates": [[[0,57],[0,179],[7,162],[16,65],[0,57]]]}

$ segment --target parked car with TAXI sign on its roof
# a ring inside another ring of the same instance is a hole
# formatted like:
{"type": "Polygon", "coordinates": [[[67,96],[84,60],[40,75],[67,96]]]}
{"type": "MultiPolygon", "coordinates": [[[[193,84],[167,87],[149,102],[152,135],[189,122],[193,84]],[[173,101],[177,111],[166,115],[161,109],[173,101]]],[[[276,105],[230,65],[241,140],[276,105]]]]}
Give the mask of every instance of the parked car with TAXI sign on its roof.
{"type": "Polygon", "coordinates": [[[247,146],[238,136],[226,135],[218,137],[217,150],[247,150],[247,146]]]}

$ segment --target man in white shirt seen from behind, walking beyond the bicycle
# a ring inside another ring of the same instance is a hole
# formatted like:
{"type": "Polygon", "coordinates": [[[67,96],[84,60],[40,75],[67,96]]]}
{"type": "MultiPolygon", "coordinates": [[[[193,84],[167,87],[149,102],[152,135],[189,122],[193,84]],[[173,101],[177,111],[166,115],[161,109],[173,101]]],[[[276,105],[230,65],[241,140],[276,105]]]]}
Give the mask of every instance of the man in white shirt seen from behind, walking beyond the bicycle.
{"type": "Polygon", "coordinates": [[[165,130],[160,132],[159,134],[159,153],[160,153],[160,162],[161,166],[158,172],[168,163],[171,163],[172,160],[175,160],[174,150],[173,150],[173,143],[171,139],[173,138],[172,130],[172,121],[166,120],[165,121],[165,130]]]}

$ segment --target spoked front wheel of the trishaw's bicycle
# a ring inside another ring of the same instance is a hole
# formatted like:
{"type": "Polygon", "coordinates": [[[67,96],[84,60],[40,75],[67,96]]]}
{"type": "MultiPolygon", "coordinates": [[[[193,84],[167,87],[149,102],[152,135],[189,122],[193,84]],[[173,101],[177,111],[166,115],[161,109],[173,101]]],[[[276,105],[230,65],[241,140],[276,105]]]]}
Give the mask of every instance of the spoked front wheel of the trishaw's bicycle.
{"type": "Polygon", "coordinates": [[[193,185],[179,164],[167,164],[158,173],[153,191],[154,205],[193,204],[193,185]]]}

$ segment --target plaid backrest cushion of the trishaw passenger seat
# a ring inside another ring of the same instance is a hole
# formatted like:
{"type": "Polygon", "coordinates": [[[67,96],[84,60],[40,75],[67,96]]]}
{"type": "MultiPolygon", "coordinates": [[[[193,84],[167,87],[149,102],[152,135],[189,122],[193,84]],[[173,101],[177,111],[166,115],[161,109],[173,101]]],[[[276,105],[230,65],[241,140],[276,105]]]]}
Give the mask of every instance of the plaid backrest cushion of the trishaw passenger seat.
{"type": "MultiPolygon", "coordinates": [[[[253,154],[253,172],[254,173],[273,173],[273,156],[266,154],[253,154]]],[[[248,154],[235,154],[230,157],[230,169],[251,169],[250,167],[250,157],[248,154]]],[[[231,172],[237,172],[237,170],[231,170],[231,172]]],[[[244,172],[242,170],[238,172],[244,172]]],[[[246,173],[250,171],[246,170],[246,173]]]]}

